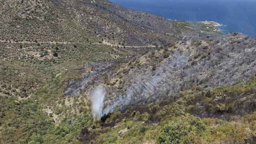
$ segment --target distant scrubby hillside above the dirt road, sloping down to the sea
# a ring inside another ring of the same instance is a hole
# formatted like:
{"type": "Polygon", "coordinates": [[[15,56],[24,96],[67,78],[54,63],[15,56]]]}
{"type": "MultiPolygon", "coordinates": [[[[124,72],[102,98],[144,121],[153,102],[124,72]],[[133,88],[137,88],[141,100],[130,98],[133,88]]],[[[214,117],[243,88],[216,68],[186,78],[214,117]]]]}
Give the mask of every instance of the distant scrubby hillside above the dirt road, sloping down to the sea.
{"type": "Polygon", "coordinates": [[[106,0],[4,0],[1,17],[2,42],[144,46],[165,44],[186,35],[177,22],[106,0]]]}

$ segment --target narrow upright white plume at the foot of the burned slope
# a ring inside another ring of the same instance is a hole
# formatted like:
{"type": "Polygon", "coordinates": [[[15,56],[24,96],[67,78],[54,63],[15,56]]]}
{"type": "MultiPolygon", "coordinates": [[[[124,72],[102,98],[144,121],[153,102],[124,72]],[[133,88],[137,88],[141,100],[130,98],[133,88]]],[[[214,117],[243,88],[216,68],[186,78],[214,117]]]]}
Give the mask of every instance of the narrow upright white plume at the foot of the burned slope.
{"type": "Polygon", "coordinates": [[[99,120],[102,117],[102,109],[106,90],[102,85],[96,87],[92,92],[92,114],[94,120],[99,120]]]}

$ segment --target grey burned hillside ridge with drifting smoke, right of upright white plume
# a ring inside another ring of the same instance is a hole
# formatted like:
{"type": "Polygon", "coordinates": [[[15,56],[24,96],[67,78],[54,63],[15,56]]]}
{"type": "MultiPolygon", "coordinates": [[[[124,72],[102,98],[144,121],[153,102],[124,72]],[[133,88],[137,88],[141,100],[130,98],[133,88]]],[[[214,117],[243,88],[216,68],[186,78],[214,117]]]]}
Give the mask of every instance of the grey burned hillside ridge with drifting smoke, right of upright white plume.
{"type": "Polygon", "coordinates": [[[75,88],[68,87],[68,91],[85,91],[88,88],[83,88],[84,86],[105,84],[108,91],[108,111],[119,104],[126,107],[150,101],[161,102],[168,95],[194,86],[211,88],[235,84],[256,74],[255,43],[254,38],[242,34],[177,42],[171,47],[123,60],[124,62],[95,64],[98,68],[109,68],[92,73],[89,80],[94,81],[94,84],[85,84],[88,81],[85,78],[75,82],[75,88]],[[102,73],[101,76],[98,73],[102,73]],[[93,76],[97,79],[93,80],[93,76]]]}

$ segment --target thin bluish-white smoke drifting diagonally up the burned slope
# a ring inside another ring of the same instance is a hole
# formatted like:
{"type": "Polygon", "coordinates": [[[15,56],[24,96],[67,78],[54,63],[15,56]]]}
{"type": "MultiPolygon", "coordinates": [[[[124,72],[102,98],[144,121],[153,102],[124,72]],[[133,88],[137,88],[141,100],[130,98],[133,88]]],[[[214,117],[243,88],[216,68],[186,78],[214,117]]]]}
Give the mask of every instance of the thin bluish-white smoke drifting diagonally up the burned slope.
{"type": "Polygon", "coordinates": [[[134,105],[141,100],[148,100],[148,98],[154,96],[154,92],[161,90],[160,86],[162,85],[162,81],[171,75],[170,70],[174,67],[182,68],[185,66],[188,63],[189,56],[190,53],[184,55],[180,52],[175,52],[171,60],[164,64],[160,63],[160,66],[154,71],[154,75],[138,74],[135,76],[135,83],[130,85],[125,94],[119,96],[114,102],[108,105],[104,109],[103,114],[106,115],[109,112],[117,110],[120,106],[134,105]]]}

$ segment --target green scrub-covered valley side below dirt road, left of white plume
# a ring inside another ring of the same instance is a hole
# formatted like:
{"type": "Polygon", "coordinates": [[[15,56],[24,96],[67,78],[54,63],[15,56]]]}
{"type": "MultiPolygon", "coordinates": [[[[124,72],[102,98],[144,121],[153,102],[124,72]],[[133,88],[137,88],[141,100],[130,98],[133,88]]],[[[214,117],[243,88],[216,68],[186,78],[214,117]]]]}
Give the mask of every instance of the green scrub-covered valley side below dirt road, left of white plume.
{"type": "Polygon", "coordinates": [[[65,82],[80,78],[88,62],[125,56],[103,45],[58,44],[54,57],[51,48],[56,50],[52,44],[1,45],[0,143],[78,143],[92,122],[90,104],[85,95],[65,98],[65,82]]]}

